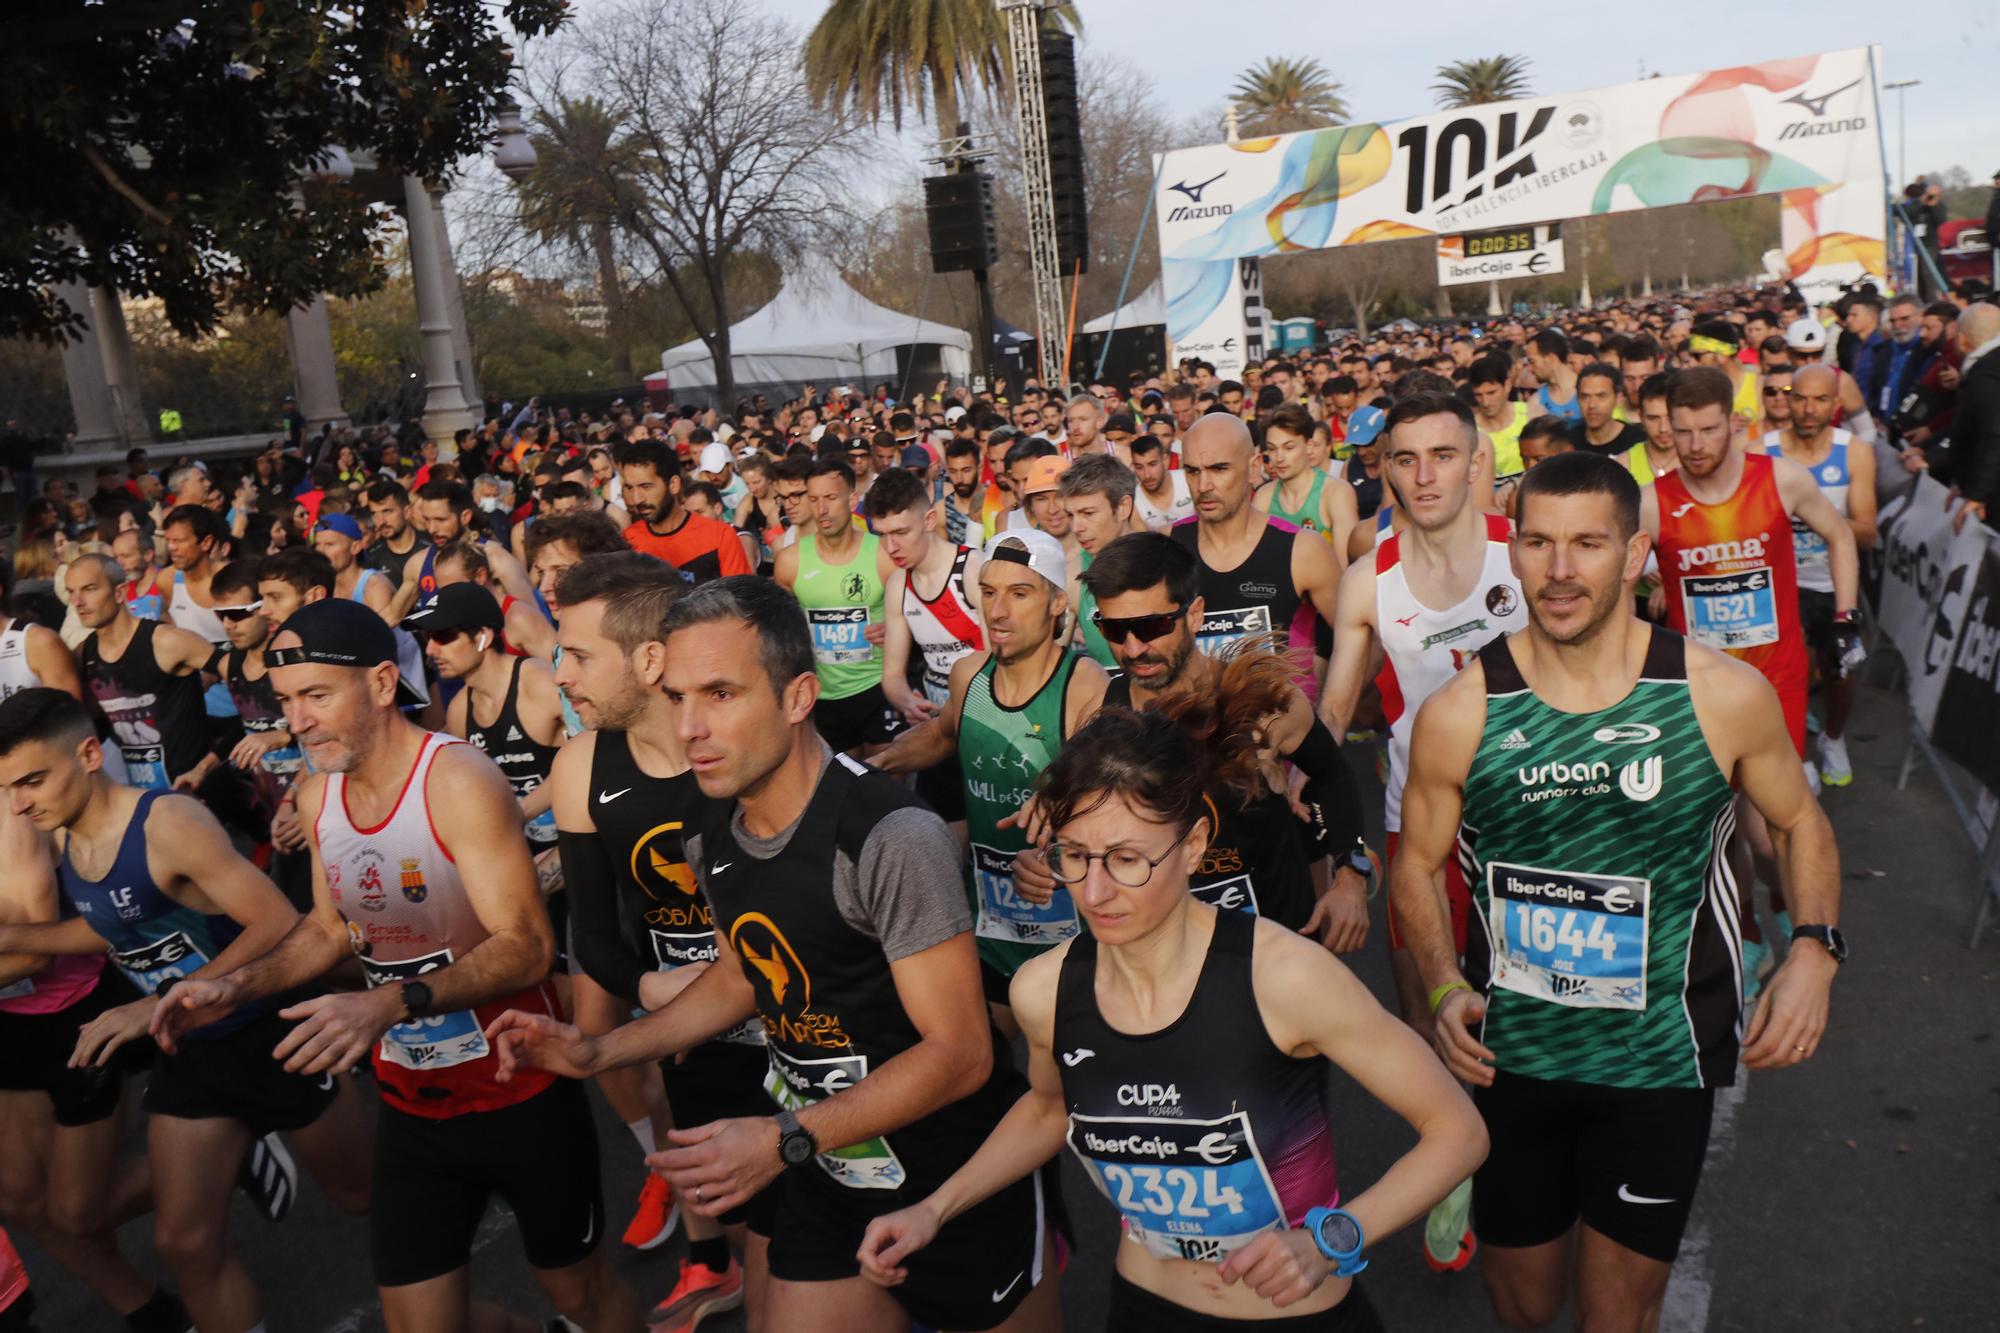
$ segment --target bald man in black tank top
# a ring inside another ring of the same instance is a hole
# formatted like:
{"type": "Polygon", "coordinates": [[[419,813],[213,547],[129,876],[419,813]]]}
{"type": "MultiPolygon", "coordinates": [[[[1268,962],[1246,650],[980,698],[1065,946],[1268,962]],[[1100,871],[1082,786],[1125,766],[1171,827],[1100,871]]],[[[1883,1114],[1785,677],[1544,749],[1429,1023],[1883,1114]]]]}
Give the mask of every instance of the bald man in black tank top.
{"type": "Polygon", "coordinates": [[[1318,532],[1276,526],[1250,502],[1250,428],[1228,412],[1194,422],[1180,466],[1194,494],[1194,522],[1172,538],[1200,562],[1200,646],[1216,652],[1258,634],[1312,650],[1312,614],[1334,622],[1342,560],[1318,532]]]}

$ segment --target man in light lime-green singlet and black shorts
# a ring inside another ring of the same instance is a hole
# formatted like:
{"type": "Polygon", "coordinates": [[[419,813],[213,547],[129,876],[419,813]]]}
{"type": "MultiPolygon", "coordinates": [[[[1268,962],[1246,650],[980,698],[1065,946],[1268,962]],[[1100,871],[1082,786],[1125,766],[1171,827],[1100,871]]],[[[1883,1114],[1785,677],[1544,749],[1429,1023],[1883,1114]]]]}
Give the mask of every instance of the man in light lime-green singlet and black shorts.
{"type": "Polygon", "coordinates": [[[884,586],[894,564],[854,524],[854,472],[822,454],[806,478],[810,530],[778,552],[772,576],[806,608],[820,677],[814,721],[834,753],[868,757],[902,727],[882,693],[884,586]]]}

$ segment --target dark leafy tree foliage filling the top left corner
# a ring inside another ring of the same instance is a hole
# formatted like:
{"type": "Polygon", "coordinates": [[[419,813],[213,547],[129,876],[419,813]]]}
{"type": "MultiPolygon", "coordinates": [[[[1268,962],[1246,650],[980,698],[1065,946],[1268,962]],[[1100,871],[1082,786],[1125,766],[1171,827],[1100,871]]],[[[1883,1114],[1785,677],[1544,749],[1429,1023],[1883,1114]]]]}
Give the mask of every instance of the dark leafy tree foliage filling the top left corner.
{"type": "Polygon", "coordinates": [[[82,282],[158,296],[184,336],[386,276],[380,208],[314,180],[330,146],[444,176],[484,148],[564,0],[16,0],[0,42],[0,338],[60,338],[82,282]]]}

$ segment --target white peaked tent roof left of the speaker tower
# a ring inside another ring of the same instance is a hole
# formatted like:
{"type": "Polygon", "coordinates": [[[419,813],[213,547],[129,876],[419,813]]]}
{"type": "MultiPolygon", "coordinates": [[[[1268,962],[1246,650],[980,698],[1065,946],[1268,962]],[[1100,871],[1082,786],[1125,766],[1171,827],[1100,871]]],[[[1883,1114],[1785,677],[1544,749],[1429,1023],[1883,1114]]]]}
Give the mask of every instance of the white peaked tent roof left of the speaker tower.
{"type": "MultiPolygon", "coordinates": [[[[756,314],[730,324],[730,360],[738,384],[834,384],[896,372],[896,348],[934,342],[944,372],[972,370],[972,338],[962,328],[934,324],[878,306],[818,262],[788,274],[756,314]]],[[[674,388],[716,382],[716,366],[700,338],[660,352],[660,368],[674,388]]]]}

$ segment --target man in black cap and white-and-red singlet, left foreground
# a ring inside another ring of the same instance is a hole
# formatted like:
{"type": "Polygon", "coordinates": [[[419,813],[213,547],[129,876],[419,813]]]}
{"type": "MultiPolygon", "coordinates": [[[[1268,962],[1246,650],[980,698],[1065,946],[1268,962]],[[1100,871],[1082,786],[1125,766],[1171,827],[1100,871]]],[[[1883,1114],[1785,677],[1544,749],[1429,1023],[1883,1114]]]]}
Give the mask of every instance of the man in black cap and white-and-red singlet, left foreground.
{"type": "Polygon", "coordinates": [[[300,1023],[274,1055],[308,1075],[374,1061],[382,1109],[368,1217],[388,1327],[538,1327],[498,1309],[472,1315],[466,1265],[492,1195],[514,1211],[536,1281],[566,1319],[636,1327],[632,1293],[602,1255],[582,1085],[538,1073],[502,1083],[484,1035],[508,1009],[558,1013],[554,937],[514,789],[476,747],[398,713],[408,697],[396,640],[368,606],[308,602],[266,662],[314,767],[298,789],[314,907],[260,959],[176,987],[154,1031],[172,1041],[358,955],[368,989],[286,1009],[300,1023]]]}

